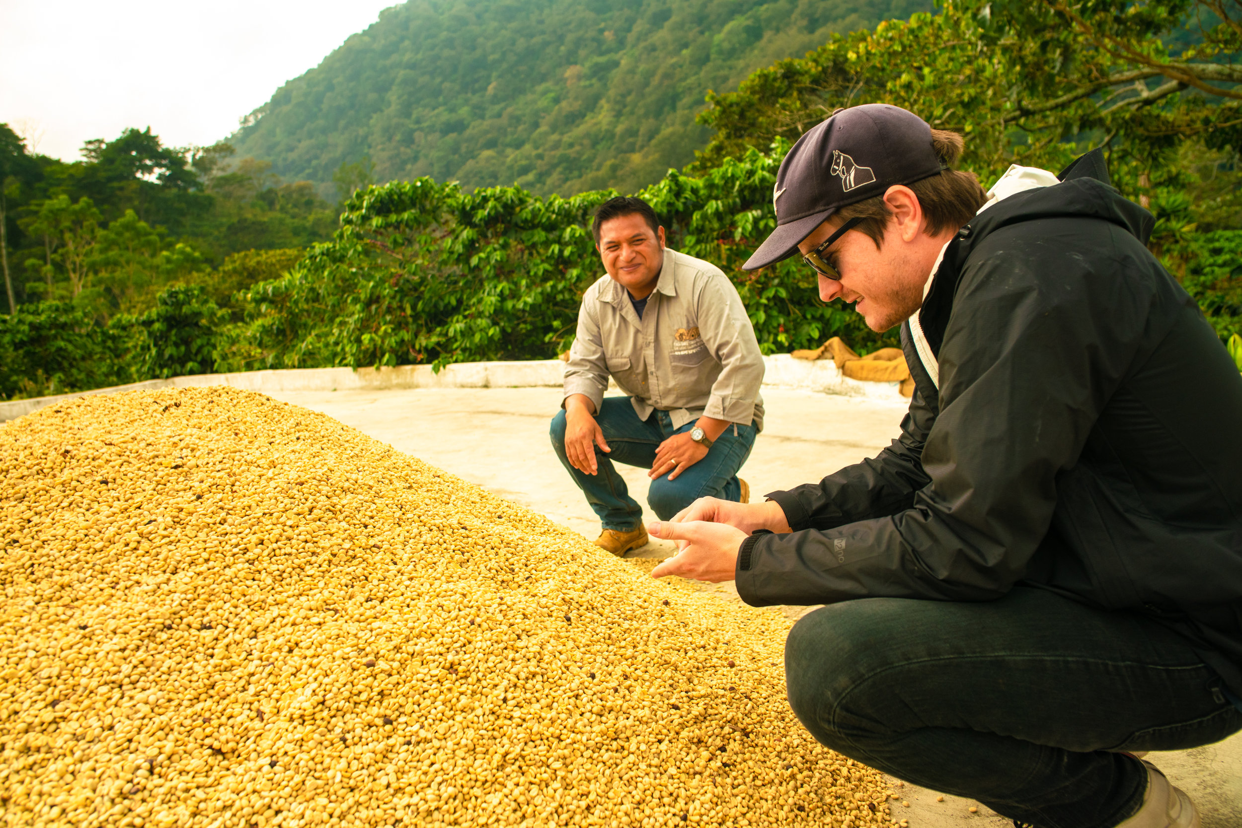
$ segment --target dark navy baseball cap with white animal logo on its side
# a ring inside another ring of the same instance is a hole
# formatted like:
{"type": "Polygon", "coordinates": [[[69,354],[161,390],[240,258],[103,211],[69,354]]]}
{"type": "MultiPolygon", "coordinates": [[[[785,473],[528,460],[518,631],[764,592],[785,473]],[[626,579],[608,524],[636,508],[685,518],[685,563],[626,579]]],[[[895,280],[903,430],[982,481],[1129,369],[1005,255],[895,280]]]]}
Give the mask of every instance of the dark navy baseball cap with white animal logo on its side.
{"type": "Polygon", "coordinates": [[[837,109],[780,163],[773,189],[776,230],[741,268],[756,271],[789,258],[837,209],[944,169],[932,128],[913,112],[887,103],[837,109]]]}

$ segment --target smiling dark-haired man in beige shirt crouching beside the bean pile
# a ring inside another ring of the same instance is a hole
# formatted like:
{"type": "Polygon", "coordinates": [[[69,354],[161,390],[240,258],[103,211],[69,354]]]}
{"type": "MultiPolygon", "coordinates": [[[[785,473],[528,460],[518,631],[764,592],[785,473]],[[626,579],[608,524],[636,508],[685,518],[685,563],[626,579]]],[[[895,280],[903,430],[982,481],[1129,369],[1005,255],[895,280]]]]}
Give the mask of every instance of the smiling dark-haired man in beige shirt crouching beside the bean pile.
{"type": "Polygon", "coordinates": [[[614,462],[651,469],[661,520],[700,497],[749,499],[738,469],[763,427],[764,361],[737,288],[668,250],[647,202],[606,201],[591,231],[607,274],[582,294],[551,443],[600,516],[595,542],[625,555],[647,530],[614,462]],[[626,396],[604,396],[610,376],[626,396]]]}

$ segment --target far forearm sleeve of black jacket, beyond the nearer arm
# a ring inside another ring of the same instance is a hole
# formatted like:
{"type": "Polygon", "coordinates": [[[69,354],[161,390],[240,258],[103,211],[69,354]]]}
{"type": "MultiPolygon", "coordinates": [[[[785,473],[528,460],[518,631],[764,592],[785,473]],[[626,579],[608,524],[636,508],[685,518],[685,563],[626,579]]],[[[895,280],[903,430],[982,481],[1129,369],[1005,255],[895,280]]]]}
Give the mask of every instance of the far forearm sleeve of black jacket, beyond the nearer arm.
{"type": "Polygon", "coordinates": [[[795,531],[833,529],[909,509],[914,493],[929,483],[923,470],[923,443],[934,415],[918,391],[902,421],[902,436],[873,458],[847,466],[818,483],[771,492],[795,531]]]}

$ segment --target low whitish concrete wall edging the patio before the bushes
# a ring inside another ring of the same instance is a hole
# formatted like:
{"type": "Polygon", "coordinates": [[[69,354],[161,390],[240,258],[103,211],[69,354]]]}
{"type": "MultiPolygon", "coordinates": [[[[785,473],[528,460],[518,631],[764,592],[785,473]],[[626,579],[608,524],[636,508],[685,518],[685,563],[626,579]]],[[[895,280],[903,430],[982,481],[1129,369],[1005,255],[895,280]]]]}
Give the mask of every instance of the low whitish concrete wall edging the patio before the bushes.
{"type": "MultiPolygon", "coordinates": [[[[889,400],[904,403],[897,382],[859,382],[843,376],[832,360],[807,362],[789,354],[765,356],[764,385],[822,394],[889,400]]],[[[237,374],[199,374],[168,380],[147,380],[111,389],[94,389],[52,397],[0,402],[0,422],[89,394],[120,394],[152,389],[193,389],[227,385],[247,391],[385,391],[396,389],[513,389],[558,387],[565,372],[560,360],[519,362],[458,362],[435,374],[430,365],[396,367],[304,367],[237,374]]]]}

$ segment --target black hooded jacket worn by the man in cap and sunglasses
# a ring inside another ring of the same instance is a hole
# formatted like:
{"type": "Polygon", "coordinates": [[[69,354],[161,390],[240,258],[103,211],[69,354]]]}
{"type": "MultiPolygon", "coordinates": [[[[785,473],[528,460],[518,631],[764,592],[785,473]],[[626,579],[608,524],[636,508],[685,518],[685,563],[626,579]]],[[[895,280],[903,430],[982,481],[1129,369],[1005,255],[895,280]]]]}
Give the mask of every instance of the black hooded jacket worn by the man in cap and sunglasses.
{"type": "Polygon", "coordinates": [[[917,391],[874,459],[769,497],[794,534],[738,556],[751,605],[987,601],[1038,586],[1148,613],[1242,696],[1242,376],[1093,178],[963,228],[907,323],[917,391]]]}

